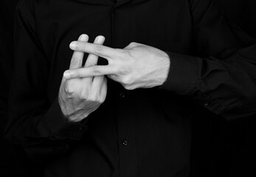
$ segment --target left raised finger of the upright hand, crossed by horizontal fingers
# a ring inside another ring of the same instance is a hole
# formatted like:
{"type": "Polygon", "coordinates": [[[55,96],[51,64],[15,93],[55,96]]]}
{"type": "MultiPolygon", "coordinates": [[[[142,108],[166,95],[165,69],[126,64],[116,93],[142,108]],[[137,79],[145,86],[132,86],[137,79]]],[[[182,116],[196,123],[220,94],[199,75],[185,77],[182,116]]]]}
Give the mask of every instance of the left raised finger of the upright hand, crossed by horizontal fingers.
{"type": "MultiPolygon", "coordinates": [[[[88,39],[89,39],[88,35],[80,35],[80,37],[78,38],[78,41],[87,42],[88,39]]],[[[78,51],[73,52],[69,69],[80,68],[83,63],[83,55],[84,55],[83,52],[78,52],[78,51]]]]}

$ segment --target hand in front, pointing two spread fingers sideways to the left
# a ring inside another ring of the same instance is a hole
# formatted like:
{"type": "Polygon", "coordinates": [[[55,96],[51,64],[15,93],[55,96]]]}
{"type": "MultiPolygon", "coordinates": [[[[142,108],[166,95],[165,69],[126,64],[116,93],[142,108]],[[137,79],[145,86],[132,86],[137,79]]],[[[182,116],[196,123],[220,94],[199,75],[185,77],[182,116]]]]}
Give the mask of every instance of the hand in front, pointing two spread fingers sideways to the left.
{"type": "Polygon", "coordinates": [[[170,59],[165,52],[144,44],[131,43],[124,49],[113,49],[74,41],[70,47],[105,58],[108,65],[68,70],[64,73],[66,79],[106,74],[125,89],[151,88],[165,82],[170,68],[170,59]]]}

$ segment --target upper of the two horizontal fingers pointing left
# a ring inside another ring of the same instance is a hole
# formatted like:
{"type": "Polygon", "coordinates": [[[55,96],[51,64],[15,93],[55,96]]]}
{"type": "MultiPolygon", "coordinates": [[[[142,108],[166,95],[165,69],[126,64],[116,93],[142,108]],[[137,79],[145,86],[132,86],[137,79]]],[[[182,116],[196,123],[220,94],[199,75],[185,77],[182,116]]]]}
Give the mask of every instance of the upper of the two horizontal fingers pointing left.
{"type": "Polygon", "coordinates": [[[70,49],[80,52],[91,53],[107,60],[111,60],[122,55],[122,49],[113,49],[111,47],[103,46],[101,44],[91,44],[81,41],[73,41],[69,46],[70,49]]]}

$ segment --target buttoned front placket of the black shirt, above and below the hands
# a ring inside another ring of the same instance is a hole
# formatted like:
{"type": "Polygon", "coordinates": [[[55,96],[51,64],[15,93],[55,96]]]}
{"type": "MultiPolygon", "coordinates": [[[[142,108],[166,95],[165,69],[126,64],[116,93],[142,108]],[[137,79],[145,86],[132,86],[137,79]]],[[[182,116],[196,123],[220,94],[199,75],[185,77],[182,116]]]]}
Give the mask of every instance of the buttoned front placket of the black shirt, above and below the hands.
{"type": "MultiPolygon", "coordinates": [[[[118,24],[125,21],[116,21],[117,15],[120,13],[121,5],[129,0],[118,1],[111,10],[111,40],[112,45],[118,46],[118,24]]],[[[125,8],[125,5],[122,6],[125,8]]],[[[121,37],[120,37],[121,38],[121,37]]],[[[125,89],[120,86],[115,91],[117,105],[117,133],[118,145],[120,152],[120,176],[134,177],[136,176],[136,145],[134,139],[134,119],[131,117],[129,110],[129,97],[125,93],[125,89]]]]}

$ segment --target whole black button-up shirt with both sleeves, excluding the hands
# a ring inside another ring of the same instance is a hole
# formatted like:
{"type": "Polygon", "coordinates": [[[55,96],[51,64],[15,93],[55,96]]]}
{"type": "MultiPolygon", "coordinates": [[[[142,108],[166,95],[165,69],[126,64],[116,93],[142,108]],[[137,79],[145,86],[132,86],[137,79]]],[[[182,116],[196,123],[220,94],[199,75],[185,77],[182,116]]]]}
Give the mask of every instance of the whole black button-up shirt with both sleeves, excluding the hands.
{"type": "Polygon", "coordinates": [[[256,112],[255,40],[211,0],[24,0],[15,47],[6,133],[46,176],[187,176],[196,103],[229,120],[256,112]],[[108,80],[105,103],[66,122],[56,98],[69,44],[82,33],[164,50],[166,82],[128,91],[108,80]]]}

